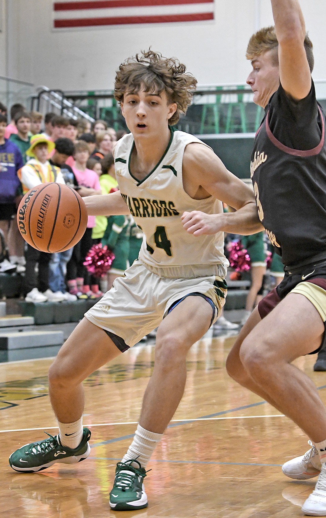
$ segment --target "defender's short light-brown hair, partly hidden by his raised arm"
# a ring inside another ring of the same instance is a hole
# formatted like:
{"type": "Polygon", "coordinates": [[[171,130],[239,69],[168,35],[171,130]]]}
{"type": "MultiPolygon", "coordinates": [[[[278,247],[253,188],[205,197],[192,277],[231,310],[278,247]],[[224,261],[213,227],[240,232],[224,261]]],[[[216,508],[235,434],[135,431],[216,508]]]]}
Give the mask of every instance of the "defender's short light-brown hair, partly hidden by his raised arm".
{"type": "MultiPolygon", "coordinates": [[[[306,51],[310,72],[312,72],[314,69],[315,60],[313,44],[308,34],[306,34],[304,39],[304,48],[306,51]]],[[[246,58],[247,60],[253,60],[255,57],[258,57],[272,49],[275,49],[275,56],[273,58],[274,65],[278,65],[278,41],[275,33],[275,27],[273,25],[270,27],[263,27],[260,29],[260,31],[257,31],[251,36],[247,47],[246,58]]]]}

